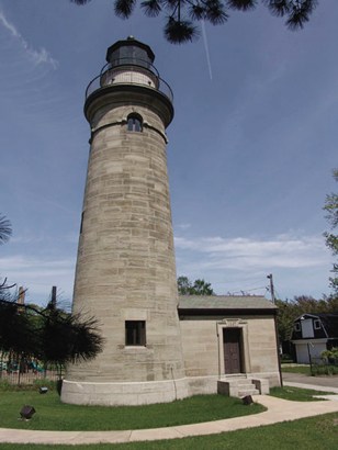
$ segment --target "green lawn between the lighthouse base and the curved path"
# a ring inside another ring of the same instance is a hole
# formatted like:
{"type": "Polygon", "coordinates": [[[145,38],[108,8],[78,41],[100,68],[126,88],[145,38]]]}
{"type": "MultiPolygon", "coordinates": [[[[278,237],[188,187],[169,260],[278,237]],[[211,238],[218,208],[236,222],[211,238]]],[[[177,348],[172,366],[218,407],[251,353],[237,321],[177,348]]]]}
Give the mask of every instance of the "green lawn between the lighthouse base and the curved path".
{"type": "Polygon", "coordinates": [[[78,406],[59,401],[55,391],[0,392],[0,428],[40,430],[122,430],[171,427],[261,413],[259,404],[243,405],[240,398],[198,395],[172,403],[146,406],[78,406]],[[34,406],[29,421],[18,419],[23,405],[34,406]],[[5,414],[3,414],[5,412],[5,414]]]}

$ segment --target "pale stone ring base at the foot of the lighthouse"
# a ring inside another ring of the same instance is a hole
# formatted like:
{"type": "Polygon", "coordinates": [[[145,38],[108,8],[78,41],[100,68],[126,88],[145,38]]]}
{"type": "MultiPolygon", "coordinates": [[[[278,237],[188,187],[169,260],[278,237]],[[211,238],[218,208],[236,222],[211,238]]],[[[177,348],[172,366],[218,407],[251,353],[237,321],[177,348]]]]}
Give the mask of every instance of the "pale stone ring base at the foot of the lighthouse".
{"type": "Polygon", "coordinates": [[[75,405],[147,405],[189,396],[184,379],[134,383],[93,383],[64,380],[61,402],[75,405]]]}

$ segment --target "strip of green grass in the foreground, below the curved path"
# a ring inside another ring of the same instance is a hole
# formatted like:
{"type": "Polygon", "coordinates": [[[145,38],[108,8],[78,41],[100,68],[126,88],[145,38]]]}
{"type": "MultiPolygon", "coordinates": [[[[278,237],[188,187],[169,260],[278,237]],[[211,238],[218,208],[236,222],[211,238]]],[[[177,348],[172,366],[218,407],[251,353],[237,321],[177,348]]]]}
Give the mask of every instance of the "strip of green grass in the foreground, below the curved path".
{"type": "MultiPolygon", "coordinates": [[[[154,442],[91,446],[21,445],[22,450],[337,450],[338,413],[219,435],[154,442]]],[[[16,450],[18,445],[0,445],[16,450]]]]}

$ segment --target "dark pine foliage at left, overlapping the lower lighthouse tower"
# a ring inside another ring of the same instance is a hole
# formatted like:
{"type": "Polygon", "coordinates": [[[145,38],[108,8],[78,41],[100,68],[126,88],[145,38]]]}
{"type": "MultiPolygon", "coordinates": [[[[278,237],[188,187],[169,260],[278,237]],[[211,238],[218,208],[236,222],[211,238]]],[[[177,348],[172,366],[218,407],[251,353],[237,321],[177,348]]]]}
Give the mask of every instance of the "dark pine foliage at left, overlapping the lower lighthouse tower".
{"type": "Polygon", "coordinates": [[[93,317],[66,313],[52,302],[41,308],[18,304],[0,291],[0,349],[18,359],[33,358],[45,364],[93,359],[103,347],[93,317]]]}

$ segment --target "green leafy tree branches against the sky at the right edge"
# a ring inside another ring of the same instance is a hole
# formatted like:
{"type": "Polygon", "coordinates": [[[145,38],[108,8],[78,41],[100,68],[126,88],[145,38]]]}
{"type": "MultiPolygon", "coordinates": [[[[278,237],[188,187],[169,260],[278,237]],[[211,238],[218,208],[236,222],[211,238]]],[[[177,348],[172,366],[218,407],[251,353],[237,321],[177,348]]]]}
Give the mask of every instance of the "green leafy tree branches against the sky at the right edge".
{"type": "MultiPolygon", "coordinates": [[[[334,170],[334,178],[338,181],[338,169],[334,170]]],[[[334,256],[338,255],[338,193],[330,193],[326,195],[326,201],[324,205],[324,211],[326,211],[326,218],[330,225],[330,232],[324,234],[326,245],[331,250],[334,256]]],[[[329,278],[330,288],[336,297],[338,297],[338,263],[335,262],[331,272],[333,277],[329,278]]]]}

